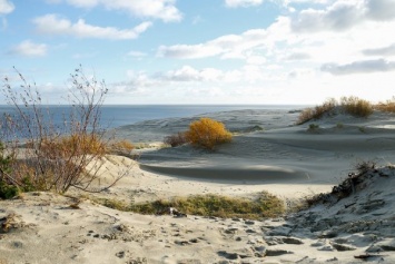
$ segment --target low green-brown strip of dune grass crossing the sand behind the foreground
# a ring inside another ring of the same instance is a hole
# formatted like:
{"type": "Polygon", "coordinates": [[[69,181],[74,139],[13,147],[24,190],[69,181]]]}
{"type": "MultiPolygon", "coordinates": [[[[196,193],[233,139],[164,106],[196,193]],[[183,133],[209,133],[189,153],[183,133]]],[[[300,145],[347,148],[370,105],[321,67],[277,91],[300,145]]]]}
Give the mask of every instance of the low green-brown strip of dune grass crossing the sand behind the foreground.
{"type": "Polygon", "coordinates": [[[103,198],[93,198],[93,201],[118,211],[148,215],[168,212],[169,207],[177,208],[177,211],[187,215],[215,216],[223,218],[240,217],[249,219],[277,217],[285,212],[284,202],[266,192],[260,193],[254,201],[214,194],[157,199],[140,204],[128,204],[126,202],[103,198]]]}

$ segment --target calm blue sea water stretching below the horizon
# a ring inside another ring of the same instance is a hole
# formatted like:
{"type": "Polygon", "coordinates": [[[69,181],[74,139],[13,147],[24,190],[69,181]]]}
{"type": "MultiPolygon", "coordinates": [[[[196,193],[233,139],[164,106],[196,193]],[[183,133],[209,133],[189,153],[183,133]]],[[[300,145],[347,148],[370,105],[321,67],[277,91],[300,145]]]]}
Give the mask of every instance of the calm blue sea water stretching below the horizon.
{"type": "MultiPolygon", "coordinates": [[[[62,115],[67,114],[70,107],[68,106],[46,106],[55,123],[62,120],[62,115]]],[[[181,106],[181,105],[166,105],[166,106],[102,106],[101,107],[101,125],[103,127],[113,128],[125,125],[131,125],[138,121],[162,119],[169,117],[190,117],[200,114],[230,111],[240,109],[293,109],[300,108],[300,106],[280,106],[280,105],[205,105],[205,106],[181,106]]],[[[12,113],[13,108],[10,106],[0,106],[0,114],[12,113]]]]}

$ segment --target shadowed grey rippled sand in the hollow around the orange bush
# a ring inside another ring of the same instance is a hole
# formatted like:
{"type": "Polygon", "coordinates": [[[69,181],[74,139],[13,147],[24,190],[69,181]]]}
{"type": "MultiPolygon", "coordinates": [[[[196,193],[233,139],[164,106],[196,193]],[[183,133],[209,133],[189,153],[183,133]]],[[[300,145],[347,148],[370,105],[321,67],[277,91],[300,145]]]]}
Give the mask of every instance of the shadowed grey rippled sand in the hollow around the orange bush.
{"type": "MultiPolygon", "coordinates": [[[[175,182],[230,183],[292,198],[329,190],[362,160],[383,165],[395,160],[394,115],[338,115],[295,126],[298,115],[297,110],[284,109],[204,115],[223,121],[237,136],[216,151],[190,146],[145,150],[140,168],[170,176],[175,182]],[[309,130],[312,123],[319,128],[309,130]]],[[[197,118],[150,120],[122,127],[118,133],[132,141],[144,137],[156,143],[186,130],[197,118]]]]}

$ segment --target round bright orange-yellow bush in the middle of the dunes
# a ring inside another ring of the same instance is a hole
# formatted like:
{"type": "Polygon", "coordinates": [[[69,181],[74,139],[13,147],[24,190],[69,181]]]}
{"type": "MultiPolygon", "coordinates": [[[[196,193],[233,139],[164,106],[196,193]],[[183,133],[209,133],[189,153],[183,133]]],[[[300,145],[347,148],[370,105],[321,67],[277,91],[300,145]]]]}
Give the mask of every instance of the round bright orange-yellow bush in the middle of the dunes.
{"type": "Polygon", "coordinates": [[[192,121],[185,136],[191,145],[207,149],[231,140],[231,134],[223,123],[207,117],[192,121]]]}

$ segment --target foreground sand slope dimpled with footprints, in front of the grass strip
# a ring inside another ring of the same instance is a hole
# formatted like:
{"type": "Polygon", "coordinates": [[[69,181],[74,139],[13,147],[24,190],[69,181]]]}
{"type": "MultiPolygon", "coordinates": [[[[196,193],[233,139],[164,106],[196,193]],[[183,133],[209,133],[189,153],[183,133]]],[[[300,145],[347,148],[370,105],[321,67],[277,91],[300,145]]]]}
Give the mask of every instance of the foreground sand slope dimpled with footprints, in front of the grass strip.
{"type": "Polygon", "coordinates": [[[50,193],[1,202],[0,263],[395,262],[395,168],[286,218],[144,216],[50,193]],[[337,198],[335,198],[337,197],[337,198]]]}

